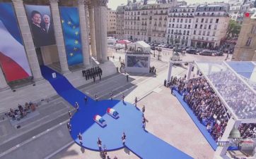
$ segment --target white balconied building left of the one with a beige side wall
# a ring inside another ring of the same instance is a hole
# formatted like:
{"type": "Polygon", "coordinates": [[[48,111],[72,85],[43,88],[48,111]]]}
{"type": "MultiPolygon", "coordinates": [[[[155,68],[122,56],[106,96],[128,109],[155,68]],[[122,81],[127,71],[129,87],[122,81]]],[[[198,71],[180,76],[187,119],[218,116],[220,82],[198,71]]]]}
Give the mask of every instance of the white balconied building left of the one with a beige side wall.
{"type": "Polygon", "coordinates": [[[194,12],[197,6],[169,8],[166,42],[175,46],[190,46],[194,12]]]}

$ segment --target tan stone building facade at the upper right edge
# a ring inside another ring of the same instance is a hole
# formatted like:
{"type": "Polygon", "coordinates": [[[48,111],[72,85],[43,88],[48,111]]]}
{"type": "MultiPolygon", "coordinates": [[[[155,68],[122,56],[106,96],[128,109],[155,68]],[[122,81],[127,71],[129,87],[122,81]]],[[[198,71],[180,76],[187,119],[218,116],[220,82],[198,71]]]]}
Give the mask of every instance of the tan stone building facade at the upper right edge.
{"type": "MultiPolygon", "coordinates": [[[[250,13],[252,15],[252,12],[250,13]]],[[[256,21],[244,18],[232,61],[256,61],[256,21]]]]}

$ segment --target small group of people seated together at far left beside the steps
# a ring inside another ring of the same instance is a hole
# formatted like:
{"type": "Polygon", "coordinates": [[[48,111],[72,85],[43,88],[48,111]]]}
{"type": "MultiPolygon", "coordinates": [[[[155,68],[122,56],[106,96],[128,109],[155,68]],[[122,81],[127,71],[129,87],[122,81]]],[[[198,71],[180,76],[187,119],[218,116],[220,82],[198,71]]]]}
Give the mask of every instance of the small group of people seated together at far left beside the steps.
{"type": "Polygon", "coordinates": [[[19,120],[28,113],[31,113],[35,111],[36,104],[32,103],[25,103],[25,106],[21,106],[21,104],[18,104],[18,108],[13,110],[13,108],[10,108],[10,111],[5,113],[6,116],[11,117],[13,120],[19,120]]]}

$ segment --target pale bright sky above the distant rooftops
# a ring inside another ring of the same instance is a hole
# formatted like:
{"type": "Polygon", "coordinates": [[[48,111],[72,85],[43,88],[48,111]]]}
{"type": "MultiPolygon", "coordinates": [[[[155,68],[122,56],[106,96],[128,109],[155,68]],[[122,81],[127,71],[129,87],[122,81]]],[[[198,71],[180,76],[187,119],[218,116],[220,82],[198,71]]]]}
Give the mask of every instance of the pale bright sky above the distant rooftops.
{"type": "MultiPolygon", "coordinates": [[[[185,1],[187,1],[187,4],[195,4],[195,3],[203,4],[204,2],[212,3],[214,1],[228,1],[228,0],[185,0],[185,1]]],[[[121,4],[127,4],[127,0],[108,0],[107,6],[112,10],[116,10],[117,6],[120,6],[121,4]]]]}

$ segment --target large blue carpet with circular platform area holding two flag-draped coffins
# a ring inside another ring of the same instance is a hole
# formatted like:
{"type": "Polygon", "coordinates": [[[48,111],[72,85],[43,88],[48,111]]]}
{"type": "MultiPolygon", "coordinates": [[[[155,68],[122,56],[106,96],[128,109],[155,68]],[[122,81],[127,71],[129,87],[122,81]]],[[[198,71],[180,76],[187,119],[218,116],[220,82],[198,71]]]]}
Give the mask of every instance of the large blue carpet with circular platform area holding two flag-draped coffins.
{"type": "Polygon", "coordinates": [[[140,158],[191,158],[177,148],[159,139],[153,134],[144,131],[142,126],[142,113],[131,103],[123,103],[117,100],[94,101],[88,97],[85,102],[81,91],[75,89],[69,81],[59,73],[57,78],[52,78],[54,70],[41,67],[42,75],[47,79],[57,93],[68,101],[72,106],[77,101],[79,110],[71,119],[71,137],[76,144],[79,144],[77,135],[81,132],[83,136],[83,146],[93,151],[98,151],[97,140],[100,137],[103,146],[107,151],[114,151],[123,148],[122,132],[127,135],[126,146],[140,158]],[[107,115],[107,108],[114,108],[120,114],[118,119],[107,115]],[[94,115],[102,116],[107,122],[106,127],[100,127],[94,122],[94,115]]]}

